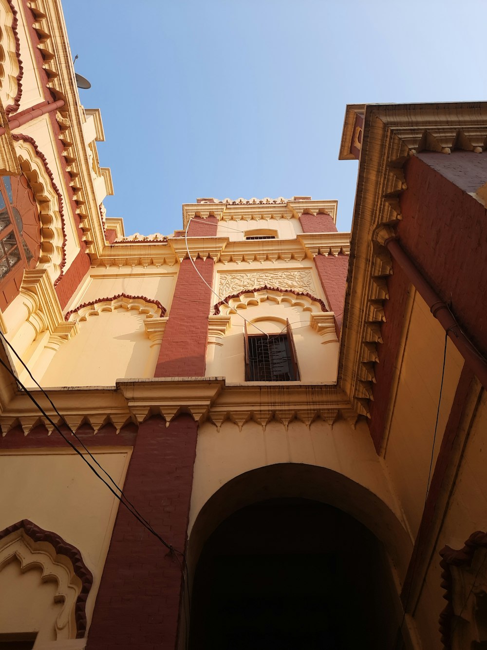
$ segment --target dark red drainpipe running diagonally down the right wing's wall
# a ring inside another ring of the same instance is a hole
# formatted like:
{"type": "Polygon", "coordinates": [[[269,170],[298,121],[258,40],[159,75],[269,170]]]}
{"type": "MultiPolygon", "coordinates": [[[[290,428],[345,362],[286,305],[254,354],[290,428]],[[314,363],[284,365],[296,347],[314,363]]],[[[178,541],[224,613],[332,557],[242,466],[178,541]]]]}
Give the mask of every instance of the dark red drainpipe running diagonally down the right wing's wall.
{"type": "Polygon", "coordinates": [[[399,240],[394,237],[386,239],[384,242],[387,250],[390,252],[392,259],[401,266],[409,281],[419,291],[419,295],[431,309],[432,315],[440,322],[456,348],[464,357],[465,363],[477,375],[482,386],[487,389],[487,363],[481,357],[481,354],[475,350],[473,344],[460,329],[455,317],[448,309],[447,305],[441,300],[440,296],[432,289],[431,285],[423,278],[423,275],[414,265],[409,255],[399,244],[399,240]]]}

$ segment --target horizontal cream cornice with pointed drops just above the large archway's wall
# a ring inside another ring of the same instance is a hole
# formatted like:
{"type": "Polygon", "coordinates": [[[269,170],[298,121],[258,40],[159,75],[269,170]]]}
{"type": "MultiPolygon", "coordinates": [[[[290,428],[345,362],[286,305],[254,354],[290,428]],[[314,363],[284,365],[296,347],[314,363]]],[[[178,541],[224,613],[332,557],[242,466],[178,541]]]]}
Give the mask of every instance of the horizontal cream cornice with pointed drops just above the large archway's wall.
{"type": "MultiPolygon", "coordinates": [[[[40,394],[36,389],[32,392],[40,394]]],[[[181,412],[191,413],[199,422],[209,419],[217,427],[229,420],[240,428],[248,421],[266,426],[267,422],[277,420],[286,427],[295,419],[310,426],[316,419],[332,424],[340,418],[355,426],[358,417],[347,395],[336,385],[298,382],[225,385],[222,377],[127,379],[119,380],[115,390],[113,387],[76,391],[58,388],[50,389],[49,396],[73,430],[89,424],[94,433],[108,423],[119,432],[129,422],[140,424],[151,415],[162,415],[170,422],[181,412]]],[[[48,404],[44,408],[54,422],[60,423],[48,404]]],[[[3,437],[14,435],[21,428],[24,432],[21,443],[26,446],[29,446],[29,432],[42,424],[47,429],[45,446],[49,447],[53,425],[39,414],[23,391],[14,393],[5,404],[0,424],[3,437]]],[[[0,437],[0,447],[3,437],[0,437]]]]}

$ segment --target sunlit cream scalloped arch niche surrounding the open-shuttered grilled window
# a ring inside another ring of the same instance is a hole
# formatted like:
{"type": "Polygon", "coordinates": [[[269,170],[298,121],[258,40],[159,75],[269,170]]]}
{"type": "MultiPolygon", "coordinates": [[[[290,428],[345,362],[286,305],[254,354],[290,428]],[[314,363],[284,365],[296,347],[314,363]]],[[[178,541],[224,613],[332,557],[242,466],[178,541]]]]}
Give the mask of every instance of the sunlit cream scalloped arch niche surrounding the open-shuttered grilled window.
{"type": "Polygon", "coordinates": [[[334,313],[311,294],[279,287],[242,291],[215,305],[208,320],[207,376],[225,376],[230,383],[245,381],[245,321],[249,335],[282,333],[289,322],[301,382],[336,382],[334,313]]]}

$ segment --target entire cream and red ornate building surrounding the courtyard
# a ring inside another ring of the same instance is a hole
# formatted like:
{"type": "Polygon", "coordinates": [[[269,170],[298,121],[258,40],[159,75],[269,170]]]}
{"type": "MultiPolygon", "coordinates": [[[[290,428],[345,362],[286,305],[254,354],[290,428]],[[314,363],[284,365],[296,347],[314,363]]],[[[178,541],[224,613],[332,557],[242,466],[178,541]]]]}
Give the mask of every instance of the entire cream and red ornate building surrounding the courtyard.
{"type": "Polygon", "coordinates": [[[487,105],[127,237],[58,0],[0,62],[0,647],[486,647],[487,105]]]}

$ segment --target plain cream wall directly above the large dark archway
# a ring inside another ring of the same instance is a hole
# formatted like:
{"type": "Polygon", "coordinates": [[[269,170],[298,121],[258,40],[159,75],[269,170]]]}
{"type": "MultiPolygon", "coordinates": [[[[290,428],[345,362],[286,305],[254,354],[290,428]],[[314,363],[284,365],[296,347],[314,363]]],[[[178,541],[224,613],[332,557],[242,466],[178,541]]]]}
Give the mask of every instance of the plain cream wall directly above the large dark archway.
{"type": "Polygon", "coordinates": [[[206,422],[198,432],[188,534],[201,508],[222,486],[236,476],[276,463],[324,467],[364,488],[360,497],[345,495],[343,488],[339,493],[330,491],[327,502],[355,516],[387,543],[394,533],[390,530],[390,521],[386,522],[372,497],[380,499],[403,530],[403,534],[395,537],[394,548],[389,548],[388,552],[394,557],[399,572],[405,569],[411,549],[410,538],[401,525],[401,509],[363,422],[353,429],[343,420],[332,426],[321,420],[310,426],[293,421],[287,428],[277,421],[269,422],[265,428],[250,421],[241,430],[229,421],[223,422],[219,430],[206,422]]]}

